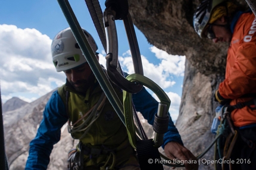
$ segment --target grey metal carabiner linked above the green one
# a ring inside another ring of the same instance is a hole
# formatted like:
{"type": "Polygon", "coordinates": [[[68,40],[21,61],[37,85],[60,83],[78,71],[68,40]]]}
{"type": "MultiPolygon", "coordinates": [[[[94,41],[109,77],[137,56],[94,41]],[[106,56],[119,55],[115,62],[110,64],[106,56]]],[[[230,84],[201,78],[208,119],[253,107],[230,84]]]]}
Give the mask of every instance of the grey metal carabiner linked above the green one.
{"type": "MultiPolygon", "coordinates": [[[[106,8],[104,11],[104,24],[107,35],[107,73],[110,80],[117,86],[120,86],[121,89],[124,89],[130,93],[137,93],[141,91],[143,86],[138,84],[138,82],[127,81],[127,79],[123,76],[123,72],[118,72],[117,70],[120,68],[120,66],[118,66],[118,40],[114,20],[115,14],[116,12],[111,10],[111,8],[106,8]]],[[[130,14],[128,14],[124,19],[124,25],[130,44],[135,73],[143,75],[141,54],[139,53],[138,41],[136,39],[130,14]]]]}

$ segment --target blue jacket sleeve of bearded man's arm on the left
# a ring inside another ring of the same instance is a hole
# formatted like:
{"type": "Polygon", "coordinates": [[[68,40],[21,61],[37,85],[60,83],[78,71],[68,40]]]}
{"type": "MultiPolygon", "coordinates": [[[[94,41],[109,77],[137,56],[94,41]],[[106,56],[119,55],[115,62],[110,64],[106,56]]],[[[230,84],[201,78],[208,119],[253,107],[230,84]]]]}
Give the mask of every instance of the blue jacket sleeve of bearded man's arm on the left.
{"type": "Polygon", "coordinates": [[[64,103],[55,91],[45,106],[36,137],[30,142],[26,170],[47,169],[53,145],[60,140],[61,127],[67,120],[64,103]]]}

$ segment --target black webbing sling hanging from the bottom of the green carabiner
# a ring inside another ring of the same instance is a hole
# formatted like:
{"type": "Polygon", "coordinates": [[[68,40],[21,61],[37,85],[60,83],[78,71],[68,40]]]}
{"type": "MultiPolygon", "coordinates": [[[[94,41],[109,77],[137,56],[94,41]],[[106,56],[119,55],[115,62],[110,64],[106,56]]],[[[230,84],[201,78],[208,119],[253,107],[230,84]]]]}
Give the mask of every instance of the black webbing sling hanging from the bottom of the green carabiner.
{"type": "Polygon", "coordinates": [[[163,164],[160,163],[161,158],[158,148],[154,146],[152,139],[138,140],[136,145],[141,170],[164,169],[163,164]]]}

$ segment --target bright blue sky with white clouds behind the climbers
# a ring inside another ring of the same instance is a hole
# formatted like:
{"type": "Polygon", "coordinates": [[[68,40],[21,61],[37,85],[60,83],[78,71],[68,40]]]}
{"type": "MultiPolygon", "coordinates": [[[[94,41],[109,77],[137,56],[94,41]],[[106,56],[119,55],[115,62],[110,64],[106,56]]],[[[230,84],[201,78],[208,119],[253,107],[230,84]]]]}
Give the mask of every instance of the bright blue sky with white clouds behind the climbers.
{"type": "MultiPolygon", "coordinates": [[[[69,1],[81,27],[98,44],[100,62],[105,52],[84,0],[69,1]]],[[[100,0],[102,10],[104,2],[100,0]]],[[[129,44],[123,21],[116,21],[118,59],[123,70],[133,73],[129,44]]],[[[64,84],[64,73],[57,73],[51,58],[51,41],[68,23],[54,0],[0,1],[0,81],[2,102],[19,97],[32,102],[64,84]]],[[[144,75],[166,91],[171,100],[170,113],[176,120],[182,95],[185,56],[172,56],[148,43],[135,27],[142,56],[144,75]]],[[[151,92],[152,94],[152,92],[151,92]]],[[[155,95],[152,94],[154,97],[155,95]]]]}

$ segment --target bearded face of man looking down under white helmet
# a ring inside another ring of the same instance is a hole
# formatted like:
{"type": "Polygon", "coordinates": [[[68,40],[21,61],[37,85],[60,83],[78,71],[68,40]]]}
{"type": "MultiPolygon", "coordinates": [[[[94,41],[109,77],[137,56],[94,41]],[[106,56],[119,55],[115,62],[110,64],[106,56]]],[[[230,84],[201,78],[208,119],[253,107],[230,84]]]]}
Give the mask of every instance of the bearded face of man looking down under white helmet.
{"type": "Polygon", "coordinates": [[[65,70],[64,73],[67,76],[68,82],[70,82],[73,88],[78,92],[85,93],[94,81],[94,76],[88,63],[65,70]]]}

